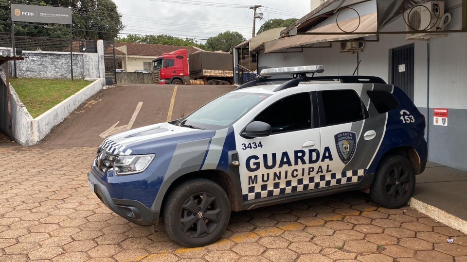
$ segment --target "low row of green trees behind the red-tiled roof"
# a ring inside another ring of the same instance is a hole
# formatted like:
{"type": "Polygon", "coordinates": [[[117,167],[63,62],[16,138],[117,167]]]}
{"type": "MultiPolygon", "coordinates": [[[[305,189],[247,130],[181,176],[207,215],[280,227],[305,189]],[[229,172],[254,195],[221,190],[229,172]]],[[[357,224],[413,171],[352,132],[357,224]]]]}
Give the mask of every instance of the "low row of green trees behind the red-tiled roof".
{"type": "Polygon", "coordinates": [[[202,44],[198,44],[195,39],[191,38],[178,38],[172,35],[159,34],[159,35],[136,35],[129,34],[124,38],[119,38],[119,42],[125,43],[140,43],[140,44],[151,44],[151,45],[169,45],[169,46],[181,46],[181,47],[198,47],[203,48],[202,44]]]}

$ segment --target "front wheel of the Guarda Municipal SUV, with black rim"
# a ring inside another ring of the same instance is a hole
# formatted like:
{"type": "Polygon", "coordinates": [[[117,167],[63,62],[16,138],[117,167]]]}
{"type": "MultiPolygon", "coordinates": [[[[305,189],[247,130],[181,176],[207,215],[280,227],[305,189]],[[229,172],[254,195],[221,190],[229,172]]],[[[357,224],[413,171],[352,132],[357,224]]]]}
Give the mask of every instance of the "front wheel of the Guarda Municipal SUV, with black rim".
{"type": "Polygon", "coordinates": [[[167,196],[162,213],[167,234],[175,243],[187,247],[215,242],[229,219],[229,197],[222,187],[207,179],[188,180],[175,187],[167,196]],[[209,199],[210,203],[202,199],[209,199]]]}

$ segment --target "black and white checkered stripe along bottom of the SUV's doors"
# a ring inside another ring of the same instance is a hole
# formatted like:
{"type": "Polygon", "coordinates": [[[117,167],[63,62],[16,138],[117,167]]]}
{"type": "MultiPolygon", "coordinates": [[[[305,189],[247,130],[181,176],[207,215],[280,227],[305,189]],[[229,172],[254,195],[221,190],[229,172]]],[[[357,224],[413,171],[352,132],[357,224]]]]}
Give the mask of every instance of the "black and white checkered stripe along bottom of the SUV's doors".
{"type": "MultiPolygon", "coordinates": [[[[309,189],[323,188],[333,185],[341,185],[347,183],[356,183],[363,179],[367,169],[343,171],[341,173],[329,173],[316,177],[300,178],[281,181],[269,182],[265,184],[256,184],[248,187],[248,194],[243,195],[243,200],[253,200],[262,197],[272,197],[292,192],[299,192],[309,189]]],[[[272,174],[270,180],[272,180],[272,174]]],[[[261,177],[258,176],[258,182],[261,182],[261,177]]]]}

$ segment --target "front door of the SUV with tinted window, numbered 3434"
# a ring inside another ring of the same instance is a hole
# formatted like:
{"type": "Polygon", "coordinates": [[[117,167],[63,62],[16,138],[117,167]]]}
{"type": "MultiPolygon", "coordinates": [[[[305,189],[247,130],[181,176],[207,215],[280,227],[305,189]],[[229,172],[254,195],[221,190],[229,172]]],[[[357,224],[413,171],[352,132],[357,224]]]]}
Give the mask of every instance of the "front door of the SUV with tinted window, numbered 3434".
{"type": "Polygon", "coordinates": [[[312,115],[310,93],[281,98],[251,119],[271,125],[271,135],[235,138],[245,201],[314,188],[323,155],[312,115]]]}

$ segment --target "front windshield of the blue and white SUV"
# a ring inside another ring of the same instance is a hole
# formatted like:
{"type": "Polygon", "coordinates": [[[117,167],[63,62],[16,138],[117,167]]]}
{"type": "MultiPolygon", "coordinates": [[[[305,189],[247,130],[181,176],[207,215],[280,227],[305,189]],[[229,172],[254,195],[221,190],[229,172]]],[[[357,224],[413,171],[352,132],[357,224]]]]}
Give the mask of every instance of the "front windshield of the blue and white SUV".
{"type": "Polygon", "coordinates": [[[227,93],[205,104],[197,111],[175,122],[196,129],[219,130],[232,125],[252,107],[270,95],[227,93]]]}

